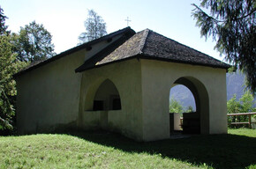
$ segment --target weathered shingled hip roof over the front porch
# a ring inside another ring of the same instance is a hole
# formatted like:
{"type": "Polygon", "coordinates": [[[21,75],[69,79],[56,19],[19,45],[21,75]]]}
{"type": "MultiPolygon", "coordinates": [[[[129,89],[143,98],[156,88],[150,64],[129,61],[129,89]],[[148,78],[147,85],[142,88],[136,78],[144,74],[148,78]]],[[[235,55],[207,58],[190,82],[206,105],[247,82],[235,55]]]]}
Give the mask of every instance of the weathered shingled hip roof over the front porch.
{"type": "Polygon", "coordinates": [[[223,69],[230,68],[229,64],[148,29],[134,34],[132,38],[126,40],[123,45],[119,46],[111,54],[96,62],[94,66],[122,61],[133,56],[144,59],[184,62],[223,69]]]}

